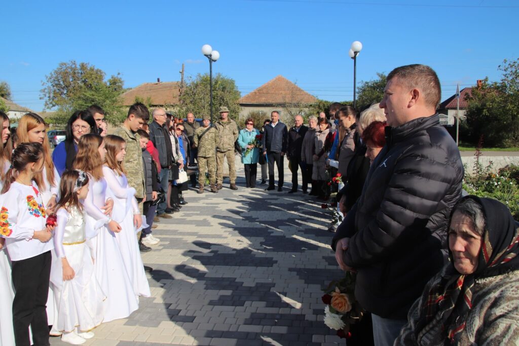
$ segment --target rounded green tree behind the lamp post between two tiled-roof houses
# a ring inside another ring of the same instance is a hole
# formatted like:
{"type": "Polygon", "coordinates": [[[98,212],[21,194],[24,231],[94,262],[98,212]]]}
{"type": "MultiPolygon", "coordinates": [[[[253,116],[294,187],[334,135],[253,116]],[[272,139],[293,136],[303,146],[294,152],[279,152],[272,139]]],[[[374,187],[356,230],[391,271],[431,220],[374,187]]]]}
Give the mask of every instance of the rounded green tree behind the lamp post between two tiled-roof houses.
{"type": "MultiPolygon", "coordinates": [[[[221,106],[229,108],[229,117],[238,120],[240,92],[234,79],[227,78],[220,73],[213,77],[213,121],[218,119],[218,109],[221,106]]],[[[180,96],[179,116],[185,117],[189,112],[195,117],[211,114],[209,74],[198,74],[189,78],[180,96]]]]}

